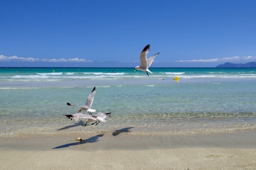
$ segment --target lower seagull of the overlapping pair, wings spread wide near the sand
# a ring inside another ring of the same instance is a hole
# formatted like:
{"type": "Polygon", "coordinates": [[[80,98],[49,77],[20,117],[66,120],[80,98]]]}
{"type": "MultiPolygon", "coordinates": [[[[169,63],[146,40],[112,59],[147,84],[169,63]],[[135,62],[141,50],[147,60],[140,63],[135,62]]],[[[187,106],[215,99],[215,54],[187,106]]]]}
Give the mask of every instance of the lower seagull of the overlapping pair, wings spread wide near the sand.
{"type": "Polygon", "coordinates": [[[85,123],[85,126],[86,126],[87,123],[90,123],[92,121],[95,121],[94,123],[92,123],[92,125],[95,123],[96,123],[95,125],[97,125],[98,123],[100,123],[100,121],[106,122],[105,118],[110,117],[110,114],[111,113],[99,112],[96,115],[90,115],[88,113],[75,113],[75,114],[63,114],[63,115],[65,115],[69,119],[75,120],[75,121],[79,120],[80,118],[88,119],[85,123]]]}

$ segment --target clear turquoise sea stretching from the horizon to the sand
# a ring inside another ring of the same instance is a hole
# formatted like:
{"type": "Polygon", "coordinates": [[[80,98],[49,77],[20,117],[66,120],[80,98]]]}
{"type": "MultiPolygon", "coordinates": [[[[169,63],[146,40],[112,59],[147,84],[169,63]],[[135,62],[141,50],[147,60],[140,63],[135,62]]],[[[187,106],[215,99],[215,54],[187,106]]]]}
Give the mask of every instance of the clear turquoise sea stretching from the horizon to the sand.
{"type": "Polygon", "coordinates": [[[0,136],[222,133],[256,127],[255,68],[0,68],[0,136]],[[112,73],[113,71],[113,73],[112,73]],[[173,80],[176,76],[180,80],[173,80]],[[96,86],[92,109],[112,112],[86,125],[77,113],[96,86]]]}

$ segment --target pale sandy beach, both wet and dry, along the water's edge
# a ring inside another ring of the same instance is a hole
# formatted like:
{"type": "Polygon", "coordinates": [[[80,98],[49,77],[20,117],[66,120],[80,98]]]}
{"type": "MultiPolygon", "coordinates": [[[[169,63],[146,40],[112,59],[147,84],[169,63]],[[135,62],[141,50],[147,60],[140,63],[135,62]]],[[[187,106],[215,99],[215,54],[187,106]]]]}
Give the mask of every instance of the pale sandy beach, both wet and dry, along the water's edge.
{"type": "Polygon", "coordinates": [[[255,131],[139,136],[113,134],[12,135],[0,141],[9,169],[241,169],[256,167],[255,131]],[[75,141],[81,137],[82,141],[75,141]]]}

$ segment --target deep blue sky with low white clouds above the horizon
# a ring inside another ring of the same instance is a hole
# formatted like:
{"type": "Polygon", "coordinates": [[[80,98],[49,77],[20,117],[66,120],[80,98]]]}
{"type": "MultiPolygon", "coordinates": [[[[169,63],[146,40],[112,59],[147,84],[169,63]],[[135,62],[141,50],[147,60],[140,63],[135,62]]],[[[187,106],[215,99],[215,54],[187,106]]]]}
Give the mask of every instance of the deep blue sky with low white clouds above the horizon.
{"type": "Polygon", "coordinates": [[[0,2],[0,67],[215,67],[256,61],[254,0],[0,2]]]}

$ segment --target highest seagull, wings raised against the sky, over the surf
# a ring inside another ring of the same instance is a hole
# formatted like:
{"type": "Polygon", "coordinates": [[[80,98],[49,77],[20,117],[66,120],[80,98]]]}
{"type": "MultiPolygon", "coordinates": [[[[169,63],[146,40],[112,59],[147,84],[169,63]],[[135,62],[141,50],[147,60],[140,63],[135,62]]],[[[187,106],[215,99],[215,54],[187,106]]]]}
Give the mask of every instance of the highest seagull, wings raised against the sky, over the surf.
{"type": "Polygon", "coordinates": [[[152,72],[150,72],[150,70],[148,68],[150,67],[154,58],[160,53],[159,52],[159,53],[155,54],[154,56],[147,59],[147,54],[149,53],[149,48],[150,48],[149,44],[144,47],[144,49],[140,53],[140,66],[136,66],[134,68],[134,70],[137,69],[137,70],[141,70],[141,71],[146,72],[147,75],[148,75],[148,72],[152,73],[152,72]]]}

